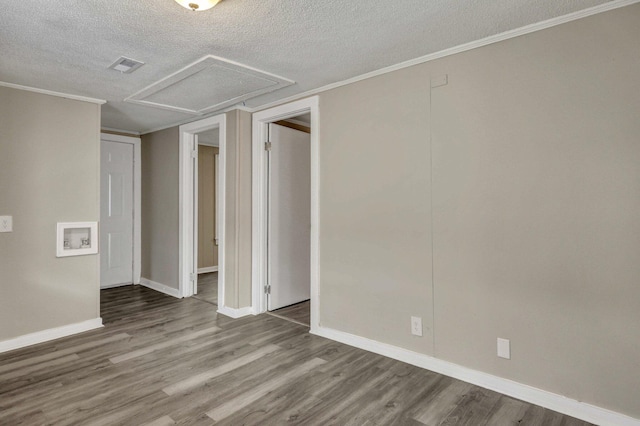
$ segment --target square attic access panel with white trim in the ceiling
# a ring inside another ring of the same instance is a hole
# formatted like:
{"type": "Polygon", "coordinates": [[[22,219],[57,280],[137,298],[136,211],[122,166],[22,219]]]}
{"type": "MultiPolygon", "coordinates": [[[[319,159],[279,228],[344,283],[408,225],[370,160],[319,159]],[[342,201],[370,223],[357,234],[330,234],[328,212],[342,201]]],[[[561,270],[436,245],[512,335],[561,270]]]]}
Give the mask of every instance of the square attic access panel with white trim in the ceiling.
{"type": "Polygon", "coordinates": [[[208,55],[129,96],[126,102],[203,115],[295,82],[208,55]]]}

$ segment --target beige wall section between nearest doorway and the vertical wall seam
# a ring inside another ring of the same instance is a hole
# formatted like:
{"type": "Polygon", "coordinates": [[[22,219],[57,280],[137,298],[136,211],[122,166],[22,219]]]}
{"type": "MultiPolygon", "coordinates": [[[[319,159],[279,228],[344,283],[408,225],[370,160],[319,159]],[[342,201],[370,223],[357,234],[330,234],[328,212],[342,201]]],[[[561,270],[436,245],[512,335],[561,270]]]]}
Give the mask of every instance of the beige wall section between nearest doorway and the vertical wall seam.
{"type": "Polygon", "coordinates": [[[431,354],[428,87],[414,67],[321,95],[320,321],[431,354]]]}

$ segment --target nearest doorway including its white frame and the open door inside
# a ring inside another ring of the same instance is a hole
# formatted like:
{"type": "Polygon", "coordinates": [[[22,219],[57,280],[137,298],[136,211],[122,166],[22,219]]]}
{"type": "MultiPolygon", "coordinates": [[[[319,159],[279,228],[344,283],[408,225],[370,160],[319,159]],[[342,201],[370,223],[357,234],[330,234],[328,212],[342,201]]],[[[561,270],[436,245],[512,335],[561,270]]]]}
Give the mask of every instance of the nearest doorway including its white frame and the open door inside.
{"type": "Polygon", "coordinates": [[[317,97],[253,115],[253,310],[279,315],[293,304],[287,309],[299,314],[308,300],[312,333],[320,325],[318,154],[317,97]]]}

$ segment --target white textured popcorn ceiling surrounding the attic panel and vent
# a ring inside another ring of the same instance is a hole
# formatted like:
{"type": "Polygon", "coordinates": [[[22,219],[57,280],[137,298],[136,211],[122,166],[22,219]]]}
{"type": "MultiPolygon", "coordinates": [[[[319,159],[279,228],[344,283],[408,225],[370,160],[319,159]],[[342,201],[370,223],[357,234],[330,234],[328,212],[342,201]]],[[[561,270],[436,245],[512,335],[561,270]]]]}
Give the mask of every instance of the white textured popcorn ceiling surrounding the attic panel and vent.
{"type": "Polygon", "coordinates": [[[206,55],[295,81],[246,101],[257,107],[607,2],[224,0],[191,12],[173,0],[0,0],[0,81],[106,99],[104,127],[145,132],[198,116],[124,99],[206,55]],[[108,69],[120,56],[145,65],[108,69]]]}

